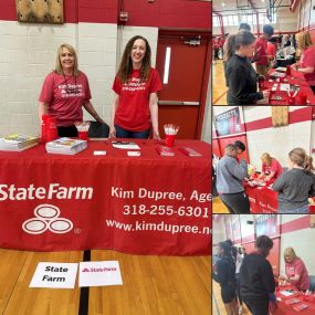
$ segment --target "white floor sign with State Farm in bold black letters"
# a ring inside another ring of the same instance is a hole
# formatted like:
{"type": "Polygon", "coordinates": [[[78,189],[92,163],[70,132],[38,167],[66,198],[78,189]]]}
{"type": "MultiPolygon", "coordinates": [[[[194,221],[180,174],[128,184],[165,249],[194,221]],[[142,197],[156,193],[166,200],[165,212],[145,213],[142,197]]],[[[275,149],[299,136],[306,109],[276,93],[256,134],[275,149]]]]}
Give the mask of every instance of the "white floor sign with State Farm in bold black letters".
{"type": "Polygon", "coordinates": [[[73,288],[77,263],[40,262],[30,287],[73,288]]]}

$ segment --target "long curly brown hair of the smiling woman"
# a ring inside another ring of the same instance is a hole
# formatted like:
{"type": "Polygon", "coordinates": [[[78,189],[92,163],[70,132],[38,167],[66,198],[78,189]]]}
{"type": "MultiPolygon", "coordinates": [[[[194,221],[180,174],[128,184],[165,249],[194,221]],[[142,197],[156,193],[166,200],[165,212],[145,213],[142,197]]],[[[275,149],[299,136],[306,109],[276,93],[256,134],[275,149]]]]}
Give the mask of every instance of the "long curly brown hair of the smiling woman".
{"type": "Polygon", "coordinates": [[[128,43],[126,44],[119,69],[117,72],[117,77],[122,83],[126,83],[133,73],[133,61],[132,61],[132,50],[133,45],[136,40],[143,40],[146,43],[146,53],[141,62],[141,67],[140,67],[140,82],[146,82],[149,77],[150,73],[150,67],[151,67],[151,49],[148,43],[148,41],[140,35],[136,35],[132,38],[128,43]]]}

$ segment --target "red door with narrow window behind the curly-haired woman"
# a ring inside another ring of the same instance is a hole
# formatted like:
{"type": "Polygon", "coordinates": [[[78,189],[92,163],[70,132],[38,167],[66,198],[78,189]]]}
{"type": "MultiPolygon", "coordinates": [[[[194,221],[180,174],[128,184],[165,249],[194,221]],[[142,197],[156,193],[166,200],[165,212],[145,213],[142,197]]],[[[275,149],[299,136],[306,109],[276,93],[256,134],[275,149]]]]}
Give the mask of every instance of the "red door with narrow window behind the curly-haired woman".
{"type": "Polygon", "coordinates": [[[156,67],[162,81],[159,92],[161,135],[165,124],[175,124],[180,126],[178,138],[198,138],[198,125],[201,126],[203,118],[202,102],[206,102],[202,95],[208,85],[209,39],[204,33],[159,34],[156,67]]]}

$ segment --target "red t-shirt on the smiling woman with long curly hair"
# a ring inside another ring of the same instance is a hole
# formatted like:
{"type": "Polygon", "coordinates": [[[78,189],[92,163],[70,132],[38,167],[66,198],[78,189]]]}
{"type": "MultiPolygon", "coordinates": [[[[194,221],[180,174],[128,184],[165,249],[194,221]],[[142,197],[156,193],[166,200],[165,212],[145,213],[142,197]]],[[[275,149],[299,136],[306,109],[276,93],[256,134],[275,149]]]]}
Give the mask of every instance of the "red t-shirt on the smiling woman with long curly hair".
{"type": "Polygon", "coordinates": [[[134,70],[127,83],[115,77],[113,90],[119,95],[115,124],[130,132],[150,128],[149,96],[161,90],[158,72],[151,67],[147,82],[140,83],[140,71],[134,70]]]}

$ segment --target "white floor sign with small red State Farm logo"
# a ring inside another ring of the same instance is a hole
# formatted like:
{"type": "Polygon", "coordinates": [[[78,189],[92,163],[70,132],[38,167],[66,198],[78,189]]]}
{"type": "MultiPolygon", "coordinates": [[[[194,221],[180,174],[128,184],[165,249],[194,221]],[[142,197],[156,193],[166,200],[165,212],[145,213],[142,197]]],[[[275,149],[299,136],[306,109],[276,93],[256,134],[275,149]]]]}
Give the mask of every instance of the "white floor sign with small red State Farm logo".
{"type": "Polygon", "coordinates": [[[78,286],[123,284],[118,261],[81,262],[78,286]]]}

